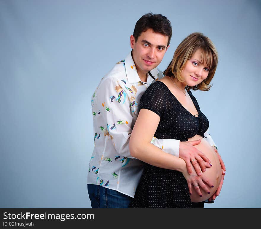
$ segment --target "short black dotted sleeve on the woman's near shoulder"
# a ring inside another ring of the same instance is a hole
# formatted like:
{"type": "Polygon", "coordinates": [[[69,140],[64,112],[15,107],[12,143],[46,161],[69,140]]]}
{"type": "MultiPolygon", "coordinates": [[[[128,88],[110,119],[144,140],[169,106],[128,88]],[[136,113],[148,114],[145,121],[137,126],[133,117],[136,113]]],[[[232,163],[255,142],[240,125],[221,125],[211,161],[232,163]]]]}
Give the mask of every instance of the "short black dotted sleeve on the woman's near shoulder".
{"type": "Polygon", "coordinates": [[[140,109],[151,110],[161,117],[166,106],[164,86],[164,83],[160,81],[151,84],[141,97],[140,109]]]}

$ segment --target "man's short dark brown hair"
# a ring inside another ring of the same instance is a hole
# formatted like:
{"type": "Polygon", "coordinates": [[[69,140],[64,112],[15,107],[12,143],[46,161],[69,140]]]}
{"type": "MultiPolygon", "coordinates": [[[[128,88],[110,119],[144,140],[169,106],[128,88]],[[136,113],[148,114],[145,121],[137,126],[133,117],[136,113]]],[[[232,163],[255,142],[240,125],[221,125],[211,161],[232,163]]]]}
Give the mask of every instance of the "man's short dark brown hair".
{"type": "MultiPolygon", "coordinates": [[[[142,32],[152,29],[155,33],[159,33],[165,36],[168,36],[168,45],[172,36],[172,27],[171,23],[165,16],[161,14],[153,14],[149,12],[148,14],[143,15],[137,22],[133,31],[133,36],[135,42],[137,42],[138,37],[142,32]]],[[[168,46],[167,45],[167,46],[168,46]]]]}

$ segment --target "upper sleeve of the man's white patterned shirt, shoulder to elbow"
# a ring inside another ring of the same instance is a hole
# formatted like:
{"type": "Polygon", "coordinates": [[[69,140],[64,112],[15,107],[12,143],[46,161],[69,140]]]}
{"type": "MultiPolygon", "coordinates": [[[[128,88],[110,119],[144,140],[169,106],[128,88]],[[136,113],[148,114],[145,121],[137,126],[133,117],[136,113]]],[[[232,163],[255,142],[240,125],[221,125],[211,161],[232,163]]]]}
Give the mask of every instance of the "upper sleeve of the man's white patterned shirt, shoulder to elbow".
{"type": "Polygon", "coordinates": [[[120,155],[133,158],[129,150],[133,117],[130,113],[130,100],[126,90],[122,82],[113,77],[101,82],[94,102],[101,111],[102,121],[94,128],[104,129],[104,134],[110,136],[110,140],[120,155]]]}

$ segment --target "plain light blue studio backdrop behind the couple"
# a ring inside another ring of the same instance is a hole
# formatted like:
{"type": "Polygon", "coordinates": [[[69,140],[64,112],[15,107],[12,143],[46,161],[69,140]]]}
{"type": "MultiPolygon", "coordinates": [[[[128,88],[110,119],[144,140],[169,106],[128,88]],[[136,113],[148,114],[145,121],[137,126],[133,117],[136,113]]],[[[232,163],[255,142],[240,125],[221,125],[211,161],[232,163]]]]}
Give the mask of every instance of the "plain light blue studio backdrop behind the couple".
{"type": "Polygon", "coordinates": [[[227,174],[206,208],[260,208],[260,1],[0,1],[0,207],[89,208],[91,95],[130,52],[136,21],[165,15],[173,36],[209,36],[219,63],[194,92],[227,174]]]}

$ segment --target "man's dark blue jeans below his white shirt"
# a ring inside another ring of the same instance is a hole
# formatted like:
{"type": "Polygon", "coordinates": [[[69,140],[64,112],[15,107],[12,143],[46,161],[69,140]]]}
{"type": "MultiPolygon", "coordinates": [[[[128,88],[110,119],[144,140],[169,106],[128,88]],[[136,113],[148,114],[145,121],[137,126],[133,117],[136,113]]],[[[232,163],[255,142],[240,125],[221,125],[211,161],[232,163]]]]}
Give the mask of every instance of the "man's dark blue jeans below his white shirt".
{"type": "Polygon", "coordinates": [[[100,185],[87,185],[92,208],[128,208],[132,197],[100,185]]]}

